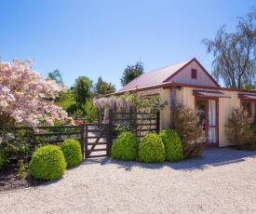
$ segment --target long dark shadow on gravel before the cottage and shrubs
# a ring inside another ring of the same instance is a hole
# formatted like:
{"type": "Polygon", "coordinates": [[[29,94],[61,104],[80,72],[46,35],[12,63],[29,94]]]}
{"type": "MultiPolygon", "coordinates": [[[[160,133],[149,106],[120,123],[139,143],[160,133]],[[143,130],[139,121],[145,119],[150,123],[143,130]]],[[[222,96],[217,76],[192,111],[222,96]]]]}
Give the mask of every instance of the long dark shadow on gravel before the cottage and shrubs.
{"type": "Polygon", "coordinates": [[[127,171],[132,170],[133,167],[143,167],[150,169],[160,169],[162,167],[171,167],[176,170],[193,170],[204,169],[207,166],[218,167],[227,164],[234,164],[245,161],[246,157],[256,158],[256,150],[244,151],[237,150],[234,147],[225,148],[209,148],[201,157],[182,160],[179,162],[164,162],[159,164],[144,164],[136,161],[116,161],[110,157],[94,158],[85,160],[82,165],[101,164],[109,165],[115,164],[117,167],[124,168],[127,171]]]}

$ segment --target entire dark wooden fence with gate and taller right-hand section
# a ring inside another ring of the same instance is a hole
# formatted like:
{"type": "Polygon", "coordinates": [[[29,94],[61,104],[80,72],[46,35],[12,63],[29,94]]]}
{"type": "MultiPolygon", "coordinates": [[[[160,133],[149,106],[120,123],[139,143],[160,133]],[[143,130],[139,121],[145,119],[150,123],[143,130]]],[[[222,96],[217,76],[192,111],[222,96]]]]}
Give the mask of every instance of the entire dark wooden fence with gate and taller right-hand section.
{"type": "MultiPolygon", "coordinates": [[[[142,138],[149,132],[159,131],[159,114],[109,113],[109,123],[86,123],[79,126],[38,127],[41,131],[26,135],[34,145],[39,143],[61,144],[65,139],[78,140],[84,158],[110,156],[116,137],[130,130],[142,138]],[[147,117],[146,122],[143,120],[147,117]]],[[[27,129],[27,128],[25,128],[27,129]]],[[[27,132],[28,133],[28,132],[27,132]]]]}

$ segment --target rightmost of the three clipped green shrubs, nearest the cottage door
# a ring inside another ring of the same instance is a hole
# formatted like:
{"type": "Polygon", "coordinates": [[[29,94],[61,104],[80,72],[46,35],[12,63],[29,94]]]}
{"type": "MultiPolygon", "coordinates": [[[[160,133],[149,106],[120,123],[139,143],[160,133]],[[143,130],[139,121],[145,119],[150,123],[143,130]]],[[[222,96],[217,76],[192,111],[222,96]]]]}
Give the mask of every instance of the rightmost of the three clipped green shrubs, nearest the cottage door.
{"type": "Polygon", "coordinates": [[[166,149],[166,160],[178,161],[183,158],[182,140],[176,131],[164,129],[159,133],[166,149]]]}

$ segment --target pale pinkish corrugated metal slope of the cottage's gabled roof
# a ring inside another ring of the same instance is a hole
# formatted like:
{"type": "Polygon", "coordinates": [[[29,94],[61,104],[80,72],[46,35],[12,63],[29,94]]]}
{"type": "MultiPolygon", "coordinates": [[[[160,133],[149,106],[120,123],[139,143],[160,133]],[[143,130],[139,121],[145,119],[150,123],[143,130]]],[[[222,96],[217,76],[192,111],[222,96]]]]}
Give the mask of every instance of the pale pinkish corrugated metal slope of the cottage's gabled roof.
{"type": "Polygon", "coordinates": [[[153,72],[141,74],[136,79],[132,80],[128,83],[127,86],[122,87],[117,92],[126,91],[130,89],[135,89],[136,87],[147,87],[152,85],[157,85],[163,83],[166,79],[168,79],[169,76],[172,74],[175,74],[177,71],[179,71],[186,63],[188,63],[190,60],[184,60],[182,62],[169,65],[164,68],[157,69],[153,72]]]}

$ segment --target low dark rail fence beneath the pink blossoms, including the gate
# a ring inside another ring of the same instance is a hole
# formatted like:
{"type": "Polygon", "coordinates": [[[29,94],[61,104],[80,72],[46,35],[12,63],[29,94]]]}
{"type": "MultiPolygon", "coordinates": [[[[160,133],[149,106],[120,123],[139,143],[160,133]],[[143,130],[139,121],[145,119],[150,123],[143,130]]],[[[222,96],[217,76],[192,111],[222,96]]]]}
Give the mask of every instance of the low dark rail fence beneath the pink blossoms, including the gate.
{"type": "Polygon", "coordinates": [[[83,159],[110,156],[113,142],[113,127],[111,124],[87,123],[79,126],[37,128],[41,131],[30,136],[34,139],[34,144],[61,145],[63,140],[74,139],[80,142],[83,159]]]}

